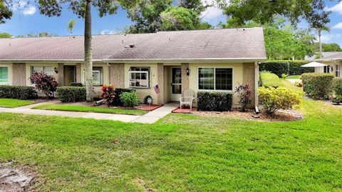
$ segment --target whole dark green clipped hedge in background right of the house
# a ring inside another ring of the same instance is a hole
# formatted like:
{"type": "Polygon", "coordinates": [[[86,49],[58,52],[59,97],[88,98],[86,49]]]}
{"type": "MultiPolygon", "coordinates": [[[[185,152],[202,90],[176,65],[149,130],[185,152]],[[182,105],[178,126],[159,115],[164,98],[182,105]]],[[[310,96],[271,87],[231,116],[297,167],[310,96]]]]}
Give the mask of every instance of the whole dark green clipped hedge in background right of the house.
{"type": "Polygon", "coordinates": [[[281,77],[281,74],[301,75],[304,73],[313,73],[315,71],[312,67],[301,67],[308,64],[309,61],[291,61],[291,60],[277,60],[266,61],[259,64],[259,71],[270,71],[281,77]]]}

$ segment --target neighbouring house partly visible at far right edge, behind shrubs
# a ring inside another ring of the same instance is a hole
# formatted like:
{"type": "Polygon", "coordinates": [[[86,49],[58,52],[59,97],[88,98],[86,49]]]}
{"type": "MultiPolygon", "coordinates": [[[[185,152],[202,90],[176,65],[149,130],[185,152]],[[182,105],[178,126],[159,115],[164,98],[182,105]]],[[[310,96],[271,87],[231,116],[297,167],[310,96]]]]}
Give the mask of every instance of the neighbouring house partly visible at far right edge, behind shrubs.
{"type": "Polygon", "coordinates": [[[322,67],[315,67],[316,73],[330,73],[338,78],[342,77],[342,52],[335,52],[335,54],[323,56],[321,59],[315,59],[314,61],[328,65],[322,67]]]}

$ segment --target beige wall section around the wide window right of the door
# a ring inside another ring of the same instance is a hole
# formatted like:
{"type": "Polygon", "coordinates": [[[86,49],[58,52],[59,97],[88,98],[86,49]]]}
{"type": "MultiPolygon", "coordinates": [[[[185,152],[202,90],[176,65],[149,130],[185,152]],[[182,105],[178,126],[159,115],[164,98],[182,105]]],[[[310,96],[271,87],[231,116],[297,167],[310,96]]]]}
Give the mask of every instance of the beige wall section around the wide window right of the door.
{"type": "MultiPolygon", "coordinates": [[[[189,89],[197,92],[198,90],[198,68],[199,67],[227,67],[233,69],[233,86],[232,91],[228,91],[230,93],[234,92],[234,89],[244,82],[244,68],[243,64],[190,64],[190,76],[189,76],[189,89]]],[[[253,73],[254,74],[254,73],[253,73]]],[[[253,76],[254,77],[254,76],[253,76]]],[[[233,96],[233,107],[239,107],[239,98],[234,94],[233,96]]]]}

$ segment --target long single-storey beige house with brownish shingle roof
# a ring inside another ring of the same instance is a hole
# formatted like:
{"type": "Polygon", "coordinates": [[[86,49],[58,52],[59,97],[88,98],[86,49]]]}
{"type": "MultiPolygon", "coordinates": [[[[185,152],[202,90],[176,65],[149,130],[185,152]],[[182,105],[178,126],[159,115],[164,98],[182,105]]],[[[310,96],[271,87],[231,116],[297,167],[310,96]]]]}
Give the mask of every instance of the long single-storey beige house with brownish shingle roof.
{"type": "MultiPolygon", "coordinates": [[[[60,86],[84,83],[83,53],[83,36],[0,39],[0,84],[31,86],[36,71],[55,76],[60,86]]],[[[254,106],[258,62],[265,60],[262,28],[93,36],[95,89],[133,88],[153,103],[179,101],[187,89],[233,92],[249,84],[254,106]]],[[[237,96],[233,103],[238,106],[237,96]]]]}

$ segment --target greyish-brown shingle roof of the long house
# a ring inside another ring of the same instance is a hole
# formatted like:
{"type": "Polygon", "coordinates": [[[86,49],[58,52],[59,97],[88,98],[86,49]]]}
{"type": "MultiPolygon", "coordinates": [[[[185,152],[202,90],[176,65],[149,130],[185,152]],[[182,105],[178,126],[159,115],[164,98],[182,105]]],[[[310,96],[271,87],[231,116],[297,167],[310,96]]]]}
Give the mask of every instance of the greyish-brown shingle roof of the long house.
{"type": "MultiPolygon", "coordinates": [[[[82,60],[83,36],[0,39],[0,61],[82,60]]],[[[262,28],[93,36],[93,59],[266,59],[262,28]],[[133,48],[127,48],[134,44],[133,48]]]]}

